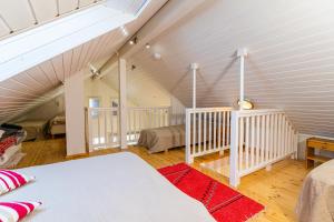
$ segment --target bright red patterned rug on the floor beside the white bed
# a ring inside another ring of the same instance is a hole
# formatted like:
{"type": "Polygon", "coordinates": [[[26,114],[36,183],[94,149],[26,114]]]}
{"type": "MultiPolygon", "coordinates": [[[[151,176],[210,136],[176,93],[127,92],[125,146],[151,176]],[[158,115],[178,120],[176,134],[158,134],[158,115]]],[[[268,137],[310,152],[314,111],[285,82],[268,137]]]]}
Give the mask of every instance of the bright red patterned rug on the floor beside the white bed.
{"type": "Polygon", "coordinates": [[[158,170],[179,190],[200,201],[208,212],[224,222],[244,222],[264,206],[185,163],[158,170]]]}

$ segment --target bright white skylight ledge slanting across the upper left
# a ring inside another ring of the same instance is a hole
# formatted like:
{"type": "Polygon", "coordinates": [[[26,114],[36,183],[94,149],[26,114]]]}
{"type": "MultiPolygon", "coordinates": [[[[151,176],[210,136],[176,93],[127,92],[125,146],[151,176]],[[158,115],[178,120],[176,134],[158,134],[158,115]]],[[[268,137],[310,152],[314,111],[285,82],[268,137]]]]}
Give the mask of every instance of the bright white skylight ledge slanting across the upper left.
{"type": "Polygon", "coordinates": [[[102,4],[0,41],[0,81],[105,34],[137,18],[102,4]]]}

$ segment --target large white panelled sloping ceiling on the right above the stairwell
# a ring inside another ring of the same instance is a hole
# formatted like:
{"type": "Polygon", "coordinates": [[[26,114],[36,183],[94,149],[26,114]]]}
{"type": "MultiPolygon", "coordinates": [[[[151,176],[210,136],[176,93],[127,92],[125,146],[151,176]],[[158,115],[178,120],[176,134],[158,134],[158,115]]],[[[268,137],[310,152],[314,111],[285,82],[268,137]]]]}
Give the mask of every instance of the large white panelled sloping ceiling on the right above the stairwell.
{"type": "Polygon", "coordinates": [[[188,107],[198,62],[198,105],[233,105],[246,47],[246,97],[284,109],[299,132],[334,137],[333,11],[331,0],[209,0],[131,59],[188,107]]]}

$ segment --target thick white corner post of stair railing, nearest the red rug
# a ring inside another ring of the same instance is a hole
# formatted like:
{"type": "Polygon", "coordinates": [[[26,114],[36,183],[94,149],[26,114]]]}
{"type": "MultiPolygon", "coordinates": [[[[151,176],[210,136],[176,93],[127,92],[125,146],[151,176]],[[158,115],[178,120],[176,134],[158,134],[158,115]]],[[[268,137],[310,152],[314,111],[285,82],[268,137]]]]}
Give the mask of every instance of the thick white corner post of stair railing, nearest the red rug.
{"type": "Polygon", "coordinates": [[[230,149],[229,149],[229,184],[237,188],[240,183],[238,172],[238,111],[232,111],[230,119],[230,149]]]}

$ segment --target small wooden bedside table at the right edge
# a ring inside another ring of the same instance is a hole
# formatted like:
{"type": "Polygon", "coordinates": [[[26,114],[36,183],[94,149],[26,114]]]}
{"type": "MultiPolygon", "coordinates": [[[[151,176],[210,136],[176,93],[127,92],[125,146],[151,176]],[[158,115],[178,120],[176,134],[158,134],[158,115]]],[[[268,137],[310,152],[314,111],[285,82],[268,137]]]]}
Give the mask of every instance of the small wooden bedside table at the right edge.
{"type": "Polygon", "coordinates": [[[332,160],[331,158],[317,155],[314,150],[326,150],[334,152],[334,140],[326,140],[321,138],[310,138],[306,141],[306,169],[313,168],[314,162],[326,162],[332,160]]]}

